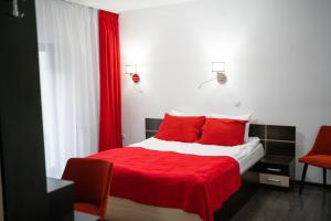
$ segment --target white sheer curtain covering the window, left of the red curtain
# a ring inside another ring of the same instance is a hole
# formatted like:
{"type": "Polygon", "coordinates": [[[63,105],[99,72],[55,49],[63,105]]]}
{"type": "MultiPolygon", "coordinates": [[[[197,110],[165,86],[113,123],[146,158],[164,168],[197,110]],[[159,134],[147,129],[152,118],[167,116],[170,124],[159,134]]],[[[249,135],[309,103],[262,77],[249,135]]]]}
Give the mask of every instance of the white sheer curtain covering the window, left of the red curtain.
{"type": "Polygon", "coordinates": [[[97,151],[99,61],[97,10],[36,0],[46,172],[97,151]]]}

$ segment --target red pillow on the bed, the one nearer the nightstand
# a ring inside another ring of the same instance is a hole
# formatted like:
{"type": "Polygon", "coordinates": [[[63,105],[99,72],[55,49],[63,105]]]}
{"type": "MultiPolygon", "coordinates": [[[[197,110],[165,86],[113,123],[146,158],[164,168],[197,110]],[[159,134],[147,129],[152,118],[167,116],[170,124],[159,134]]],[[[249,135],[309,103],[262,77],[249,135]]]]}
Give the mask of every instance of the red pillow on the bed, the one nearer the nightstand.
{"type": "Polygon", "coordinates": [[[236,146],[244,144],[246,120],[206,118],[202,127],[203,145],[236,146]]]}

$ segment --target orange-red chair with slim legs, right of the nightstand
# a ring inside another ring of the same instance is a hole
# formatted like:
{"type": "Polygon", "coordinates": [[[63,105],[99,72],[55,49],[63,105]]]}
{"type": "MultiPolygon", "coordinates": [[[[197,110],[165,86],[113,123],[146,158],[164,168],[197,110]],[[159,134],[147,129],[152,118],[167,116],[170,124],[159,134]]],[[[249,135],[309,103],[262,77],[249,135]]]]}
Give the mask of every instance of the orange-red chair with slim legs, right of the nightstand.
{"type": "Polygon", "coordinates": [[[331,169],[331,126],[322,126],[311,150],[299,159],[305,164],[299,194],[302,192],[308,165],[323,168],[323,186],[327,187],[327,169],[331,169]]]}

